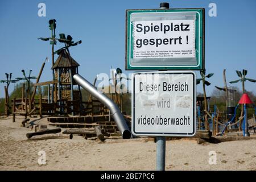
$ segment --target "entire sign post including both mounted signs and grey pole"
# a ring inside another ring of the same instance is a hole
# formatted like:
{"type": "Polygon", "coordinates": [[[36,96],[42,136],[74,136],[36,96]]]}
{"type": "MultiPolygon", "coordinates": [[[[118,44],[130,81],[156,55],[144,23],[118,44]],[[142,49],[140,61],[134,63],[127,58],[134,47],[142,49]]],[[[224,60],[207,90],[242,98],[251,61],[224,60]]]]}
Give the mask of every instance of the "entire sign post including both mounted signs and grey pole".
{"type": "Polygon", "coordinates": [[[204,69],[204,9],[160,3],[126,10],[126,69],[158,70],[133,73],[131,130],[156,137],[156,170],[164,171],[166,137],[196,134],[196,74],[189,70],[204,69]]]}

